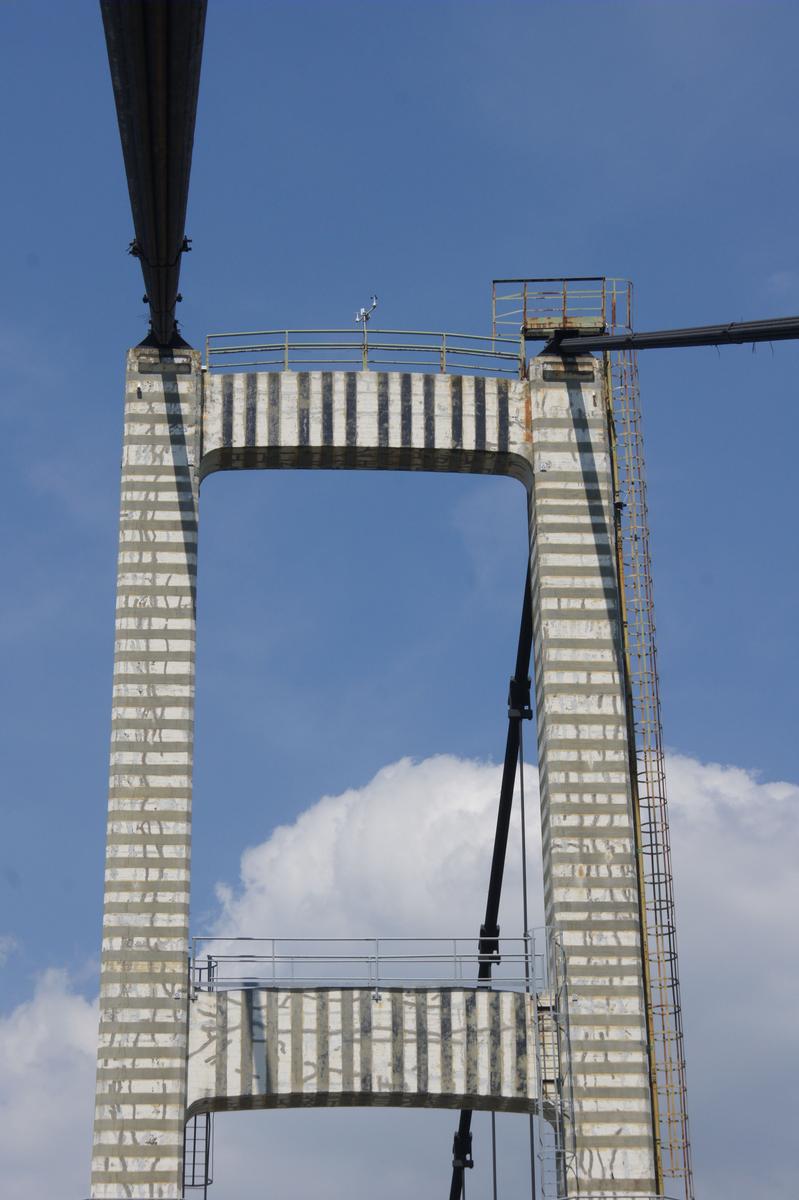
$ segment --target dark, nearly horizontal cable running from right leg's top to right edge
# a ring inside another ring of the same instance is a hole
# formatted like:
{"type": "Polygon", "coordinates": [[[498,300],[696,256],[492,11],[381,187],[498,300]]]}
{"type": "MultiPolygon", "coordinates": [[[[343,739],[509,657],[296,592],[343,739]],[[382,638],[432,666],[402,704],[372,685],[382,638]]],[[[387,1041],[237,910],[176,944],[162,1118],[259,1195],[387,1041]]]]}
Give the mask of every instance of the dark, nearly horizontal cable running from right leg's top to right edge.
{"type": "MultiPolygon", "coordinates": [[[[527,341],[543,341],[536,332],[525,332],[527,341]]],[[[548,335],[545,335],[548,337],[548,335]]],[[[783,342],[799,338],[799,317],[773,317],[768,320],[733,320],[726,325],[696,325],[689,329],[662,329],[650,334],[573,334],[570,330],[548,337],[546,353],[589,354],[593,350],[660,350],[683,346],[740,346],[749,342],[783,342]]]]}

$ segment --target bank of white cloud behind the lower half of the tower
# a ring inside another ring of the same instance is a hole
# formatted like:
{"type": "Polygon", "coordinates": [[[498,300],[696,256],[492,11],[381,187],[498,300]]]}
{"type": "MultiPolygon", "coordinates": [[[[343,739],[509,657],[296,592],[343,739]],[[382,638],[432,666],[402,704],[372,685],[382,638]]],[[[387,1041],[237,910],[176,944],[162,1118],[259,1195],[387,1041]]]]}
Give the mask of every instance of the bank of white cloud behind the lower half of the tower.
{"type": "MultiPolygon", "coordinates": [[[[799,985],[794,913],[799,787],[673,755],[668,763],[689,1085],[698,1194],[794,1194],[799,985]]],[[[402,760],[365,787],[325,797],[247,850],[221,888],[226,936],[471,934],[482,918],[500,768],[402,760]]],[[[528,770],[530,858],[540,859],[528,770]]],[[[503,929],[518,930],[518,816],[503,929]]],[[[534,919],[540,876],[533,872],[534,919]]],[[[96,1016],[56,972],[0,1019],[4,1195],[84,1194],[96,1016]],[[46,1151],[43,1153],[42,1151],[46,1151]]],[[[453,1114],[301,1110],[217,1117],[214,1200],[322,1190],[390,1200],[444,1192],[453,1114]]],[[[486,1194],[487,1122],[477,1121],[473,1194],[486,1194]]],[[[524,1122],[498,1122],[505,1194],[525,1188],[524,1122]]]]}

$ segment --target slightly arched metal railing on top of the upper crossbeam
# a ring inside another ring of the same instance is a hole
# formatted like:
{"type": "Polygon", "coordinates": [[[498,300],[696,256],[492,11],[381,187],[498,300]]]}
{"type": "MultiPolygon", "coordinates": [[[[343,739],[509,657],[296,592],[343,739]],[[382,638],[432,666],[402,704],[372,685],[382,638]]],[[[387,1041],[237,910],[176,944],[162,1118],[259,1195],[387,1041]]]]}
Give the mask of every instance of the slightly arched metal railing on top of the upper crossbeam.
{"type": "Polygon", "coordinates": [[[271,329],[209,334],[211,371],[422,371],[524,378],[518,337],[404,329],[271,329]]]}

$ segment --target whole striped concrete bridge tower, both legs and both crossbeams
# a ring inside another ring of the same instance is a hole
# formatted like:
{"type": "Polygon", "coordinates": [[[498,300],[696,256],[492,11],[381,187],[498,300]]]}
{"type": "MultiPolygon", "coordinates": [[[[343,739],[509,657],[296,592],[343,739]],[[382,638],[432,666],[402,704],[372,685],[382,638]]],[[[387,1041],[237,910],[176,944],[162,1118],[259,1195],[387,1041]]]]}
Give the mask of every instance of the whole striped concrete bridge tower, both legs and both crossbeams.
{"type": "Polygon", "coordinates": [[[528,358],[497,334],[208,344],[205,362],[146,344],[127,356],[92,1198],[174,1200],[187,1120],[293,1104],[535,1112],[557,1132],[557,1194],[662,1194],[602,361],[528,358]],[[330,361],[348,353],[349,368],[330,361]],[[486,982],[498,949],[525,955],[495,929],[455,952],[471,985],[242,980],[218,970],[230,948],[190,972],[200,487],[286,468],[522,485],[553,931],[537,989],[486,982]]]}

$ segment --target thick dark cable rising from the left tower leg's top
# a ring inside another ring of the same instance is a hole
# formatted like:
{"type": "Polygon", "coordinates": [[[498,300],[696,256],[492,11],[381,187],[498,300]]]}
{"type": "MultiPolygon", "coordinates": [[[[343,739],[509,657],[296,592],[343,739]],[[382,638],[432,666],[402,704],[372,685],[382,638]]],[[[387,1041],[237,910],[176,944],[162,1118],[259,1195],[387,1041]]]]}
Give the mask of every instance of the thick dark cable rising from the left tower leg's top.
{"type": "Polygon", "coordinates": [[[101,0],[125,172],[131,253],[142,262],[157,346],[175,320],[206,0],[101,0]]]}

